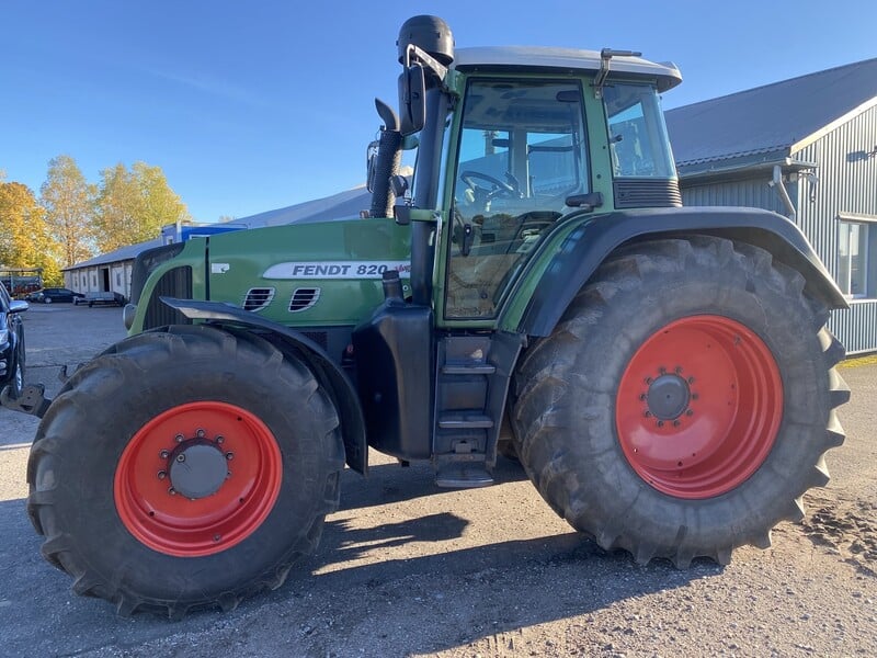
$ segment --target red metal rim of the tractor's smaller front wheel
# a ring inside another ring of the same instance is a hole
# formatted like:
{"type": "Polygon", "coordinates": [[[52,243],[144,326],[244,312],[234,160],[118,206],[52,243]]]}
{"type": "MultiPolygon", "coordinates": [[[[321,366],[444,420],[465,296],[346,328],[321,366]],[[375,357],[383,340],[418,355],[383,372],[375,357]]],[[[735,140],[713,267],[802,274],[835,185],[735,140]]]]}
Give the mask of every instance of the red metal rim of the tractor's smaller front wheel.
{"type": "Polygon", "coordinates": [[[226,402],[190,402],[134,435],[116,467],[113,494],[122,522],[143,544],[197,557],[250,536],[274,507],[282,477],[280,447],[261,420],[226,402]],[[189,474],[182,468],[186,455],[189,474]],[[174,488],[174,475],[186,494],[174,488]],[[198,486],[209,490],[193,494],[198,486]]]}

